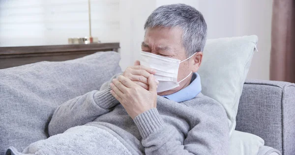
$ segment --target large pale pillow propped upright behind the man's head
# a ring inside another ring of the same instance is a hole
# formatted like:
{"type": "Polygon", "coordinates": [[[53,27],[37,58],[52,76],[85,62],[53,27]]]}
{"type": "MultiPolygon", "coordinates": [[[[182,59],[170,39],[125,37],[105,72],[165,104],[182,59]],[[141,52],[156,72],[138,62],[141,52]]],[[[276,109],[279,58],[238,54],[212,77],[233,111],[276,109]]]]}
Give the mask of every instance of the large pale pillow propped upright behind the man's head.
{"type": "Polygon", "coordinates": [[[230,134],[236,128],[236,113],[243,84],[256,50],[256,35],[207,40],[198,71],[202,93],[223,105],[230,134]]]}

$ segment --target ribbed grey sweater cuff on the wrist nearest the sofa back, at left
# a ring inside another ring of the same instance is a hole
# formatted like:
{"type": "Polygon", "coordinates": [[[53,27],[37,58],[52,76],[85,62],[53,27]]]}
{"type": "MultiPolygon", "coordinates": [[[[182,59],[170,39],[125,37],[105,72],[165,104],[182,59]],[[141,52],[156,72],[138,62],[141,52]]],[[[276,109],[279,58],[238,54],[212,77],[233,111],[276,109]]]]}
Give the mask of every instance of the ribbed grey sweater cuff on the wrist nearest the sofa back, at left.
{"type": "Polygon", "coordinates": [[[94,95],[94,102],[104,109],[109,109],[115,105],[117,105],[119,102],[118,100],[111,94],[112,88],[108,87],[105,90],[97,91],[94,95]]]}

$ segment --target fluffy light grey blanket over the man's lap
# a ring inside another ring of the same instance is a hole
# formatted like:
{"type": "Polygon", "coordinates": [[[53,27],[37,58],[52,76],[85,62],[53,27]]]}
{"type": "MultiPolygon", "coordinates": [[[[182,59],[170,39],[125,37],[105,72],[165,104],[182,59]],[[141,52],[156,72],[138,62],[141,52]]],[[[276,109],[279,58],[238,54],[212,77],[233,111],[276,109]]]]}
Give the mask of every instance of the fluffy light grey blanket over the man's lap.
{"type": "Polygon", "coordinates": [[[6,155],[131,155],[115,136],[92,126],[70,128],[62,134],[30,144],[22,153],[10,147],[7,153],[6,155]]]}

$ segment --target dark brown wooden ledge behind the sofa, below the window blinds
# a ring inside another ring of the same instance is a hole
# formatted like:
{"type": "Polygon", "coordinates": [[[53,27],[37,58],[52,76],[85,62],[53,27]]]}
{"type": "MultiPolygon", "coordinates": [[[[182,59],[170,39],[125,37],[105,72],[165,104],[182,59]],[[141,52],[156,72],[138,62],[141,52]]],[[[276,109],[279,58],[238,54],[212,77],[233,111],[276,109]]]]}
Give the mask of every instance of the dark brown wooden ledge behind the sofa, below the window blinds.
{"type": "Polygon", "coordinates": [[[0,69],[39,61],[65,61],[95,52],[116,51],[119,43],[0,47],[0,69]]]}

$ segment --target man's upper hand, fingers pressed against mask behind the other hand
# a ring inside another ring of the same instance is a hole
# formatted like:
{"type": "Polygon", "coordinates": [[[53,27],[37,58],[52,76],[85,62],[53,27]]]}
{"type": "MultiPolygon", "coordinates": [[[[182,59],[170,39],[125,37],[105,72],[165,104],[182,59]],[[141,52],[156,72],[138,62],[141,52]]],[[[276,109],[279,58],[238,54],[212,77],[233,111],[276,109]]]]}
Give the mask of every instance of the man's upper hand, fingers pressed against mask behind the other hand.
{"type": "MultiPolygon", "coordinates": [[[[134,62],[134,66],[127,67],[124,73],[122,74],[125,78],[129,78],[132,80],[134,83],[142,86],[146,90],[149,89],[148,86],[148,77],[151,74],[155,74],[156,70],[151,69],[146,66],[141,66],[140,62],[137,60],[134,62]]],[[[156,80],[157,83],[159,81],[156,80]]]]}

